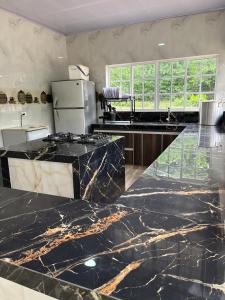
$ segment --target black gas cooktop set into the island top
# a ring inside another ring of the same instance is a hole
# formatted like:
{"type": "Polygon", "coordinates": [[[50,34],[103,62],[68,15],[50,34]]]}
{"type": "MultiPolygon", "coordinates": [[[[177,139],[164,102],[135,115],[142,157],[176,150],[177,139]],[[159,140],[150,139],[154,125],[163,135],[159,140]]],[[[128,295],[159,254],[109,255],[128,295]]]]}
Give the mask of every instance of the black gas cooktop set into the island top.
{"type": "Polygon", "coordinates": [[[44,142],[56,143],[79,143],[79,144],[92,144],[101,145],[108,142],[109,136],[106,134],[81,134],[76,135],[71,132],[59,132],[50,134],[43,139],[44,142]]]}

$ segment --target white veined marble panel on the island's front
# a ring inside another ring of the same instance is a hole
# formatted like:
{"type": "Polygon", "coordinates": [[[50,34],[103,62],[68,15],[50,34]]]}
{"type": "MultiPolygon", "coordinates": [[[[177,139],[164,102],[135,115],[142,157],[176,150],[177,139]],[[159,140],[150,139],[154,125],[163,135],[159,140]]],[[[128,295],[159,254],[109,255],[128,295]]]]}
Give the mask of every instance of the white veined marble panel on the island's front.
{"type": "Polygon", "coordinates": [[[13,189],[74,198],[72,164],[9,158],[13,189]]]}

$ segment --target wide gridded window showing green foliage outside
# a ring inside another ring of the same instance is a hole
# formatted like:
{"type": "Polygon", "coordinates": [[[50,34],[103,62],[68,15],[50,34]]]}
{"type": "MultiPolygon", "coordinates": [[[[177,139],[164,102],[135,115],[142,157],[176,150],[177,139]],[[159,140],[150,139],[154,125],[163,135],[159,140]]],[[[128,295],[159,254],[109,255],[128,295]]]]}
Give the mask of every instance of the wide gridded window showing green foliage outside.
{"type": "MultiPolygon", "coordinates": [[[[136,99],[139,110],[198,110],[199,101],[214,99],[215,56],[107,67],[108,86],[136,99]]],[[[130,103],[114,103],[127,110],[130,103]]]]}

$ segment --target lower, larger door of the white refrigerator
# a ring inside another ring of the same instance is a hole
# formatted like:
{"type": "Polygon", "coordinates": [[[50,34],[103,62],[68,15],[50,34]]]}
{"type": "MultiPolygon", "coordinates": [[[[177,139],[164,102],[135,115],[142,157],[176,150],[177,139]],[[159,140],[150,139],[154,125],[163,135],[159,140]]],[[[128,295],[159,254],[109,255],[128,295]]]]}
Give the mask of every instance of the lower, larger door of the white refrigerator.
{"type": "Polygon", "coordinates": [[[85,134],[85,110],[81,109],[54,109],[56,132],[72,132],[85,134]]]}

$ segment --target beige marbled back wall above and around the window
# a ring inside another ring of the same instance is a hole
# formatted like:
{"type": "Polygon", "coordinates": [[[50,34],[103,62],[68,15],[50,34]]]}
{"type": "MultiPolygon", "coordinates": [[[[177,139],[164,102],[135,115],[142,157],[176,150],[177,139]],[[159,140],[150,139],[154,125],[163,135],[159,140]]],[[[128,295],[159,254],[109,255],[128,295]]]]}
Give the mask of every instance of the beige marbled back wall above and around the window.
{"type": "Polygon", "coordinates": [[[225,97],[225,11],[158,20],[67,37],[71,64],[90,67],[100,91],[105,65],[219,54],[217,97],[225,97]],[[166,43],[159,47],[158,43],[166,43]]]}

